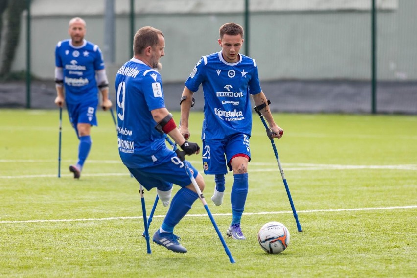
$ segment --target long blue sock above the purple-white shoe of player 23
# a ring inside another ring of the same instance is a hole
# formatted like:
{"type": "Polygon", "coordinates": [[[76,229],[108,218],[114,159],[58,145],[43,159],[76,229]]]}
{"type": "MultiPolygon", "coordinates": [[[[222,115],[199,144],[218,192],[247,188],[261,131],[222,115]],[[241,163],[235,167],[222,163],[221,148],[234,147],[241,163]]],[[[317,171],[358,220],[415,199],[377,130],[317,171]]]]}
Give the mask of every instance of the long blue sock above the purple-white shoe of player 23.
{"type": "Polygon", "coordinates": [[[232,187],[232,193],[230,201],[232,203],[232,223],[240,224],[243,210],[245,209],[246,197],[248,196],[248,173],[234,174],[234,182],[232,187]]]}

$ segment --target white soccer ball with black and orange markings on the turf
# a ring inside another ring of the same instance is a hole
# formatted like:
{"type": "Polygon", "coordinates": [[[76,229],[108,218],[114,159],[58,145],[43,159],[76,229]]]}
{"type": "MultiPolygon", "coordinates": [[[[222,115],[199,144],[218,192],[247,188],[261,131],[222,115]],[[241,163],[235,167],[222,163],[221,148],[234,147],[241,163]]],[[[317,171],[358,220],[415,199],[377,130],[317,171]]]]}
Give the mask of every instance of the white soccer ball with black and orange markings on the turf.
{"type": "Polygon", "coordinates": [[[268,222],[260,228],[258,241],[265,252],[278,254],[290,244],[290,232],[280,222],[268,222]]]}

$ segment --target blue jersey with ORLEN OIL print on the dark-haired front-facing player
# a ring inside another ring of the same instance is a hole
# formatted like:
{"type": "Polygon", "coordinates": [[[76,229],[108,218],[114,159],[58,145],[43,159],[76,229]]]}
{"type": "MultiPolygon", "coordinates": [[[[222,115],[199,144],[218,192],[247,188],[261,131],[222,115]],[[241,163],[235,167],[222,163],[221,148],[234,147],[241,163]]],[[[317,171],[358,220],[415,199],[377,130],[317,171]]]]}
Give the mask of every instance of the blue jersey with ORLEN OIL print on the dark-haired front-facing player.
{"type": "Polygon", "coordinates": [[[221,51],[203,56],[185,81],[192,92],[197,92],[203,84],[202,139],[225,139],[237,133],[251,135],[249,95],[262,90],[255,60],[239,55],[236,63],[226,62],[221,51]]]}

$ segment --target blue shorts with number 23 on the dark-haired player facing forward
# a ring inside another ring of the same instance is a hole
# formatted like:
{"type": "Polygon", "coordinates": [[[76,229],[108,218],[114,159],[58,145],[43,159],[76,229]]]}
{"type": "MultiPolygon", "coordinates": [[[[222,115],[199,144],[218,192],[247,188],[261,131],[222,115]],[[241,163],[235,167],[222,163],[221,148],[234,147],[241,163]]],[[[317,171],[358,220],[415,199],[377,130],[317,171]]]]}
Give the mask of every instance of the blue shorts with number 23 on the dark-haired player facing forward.
{"type": "Polygon", "coordinates": [[[202,153],[205,174],[227,174],[226,165],[232,171],[230,160],[233,156],[243,154],[251,160],[249,136],[240,133],[222,140],[204,139],[202,153]]]}

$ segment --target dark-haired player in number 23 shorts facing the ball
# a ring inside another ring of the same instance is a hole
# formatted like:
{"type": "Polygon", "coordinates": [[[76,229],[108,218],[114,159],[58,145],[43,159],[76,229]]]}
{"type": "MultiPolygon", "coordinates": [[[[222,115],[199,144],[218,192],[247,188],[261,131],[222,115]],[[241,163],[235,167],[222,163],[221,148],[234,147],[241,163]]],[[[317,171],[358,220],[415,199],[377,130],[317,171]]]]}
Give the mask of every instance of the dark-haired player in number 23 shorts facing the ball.
{"type": "Polygon", "coordinates": [[[262,115],[280,138],[282,129],[274,122],[267,98],[262,92],[258,68],[254,59],[239,53],[243,44],[243,28],[235,23],[220,27],[218,40],[222,50],[203,56],[185,81],[181,97],[181,134],[188,139],[188,118],[192,96],[200,84],[204,94],[204,120],[202,129],[203,169],[212,174],[216,186],[211,200],[219,206],[223,202],[227,167],[233,171],[231,192],[232,222],[227,235],[233,239],[246,239],[240,223],[248,194],[248,162],[251,160],[249,138],[252,130],[252,108],[265,104],[262,115]]]}

